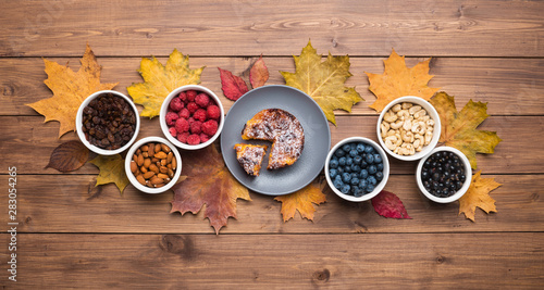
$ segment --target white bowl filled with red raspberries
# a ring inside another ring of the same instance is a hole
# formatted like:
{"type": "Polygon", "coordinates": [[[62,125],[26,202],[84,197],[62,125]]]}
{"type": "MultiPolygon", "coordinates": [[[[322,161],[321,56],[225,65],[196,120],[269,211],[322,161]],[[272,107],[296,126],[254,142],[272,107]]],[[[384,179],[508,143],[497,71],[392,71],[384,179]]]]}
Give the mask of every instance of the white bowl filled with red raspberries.
{"type": "Polygon", "coordinates": [[[221,134],[224,110],[210,89],[187,85],[174,89],[161,106],[160,123],[166,139],[185,150],[211,144],[221,134]]]}

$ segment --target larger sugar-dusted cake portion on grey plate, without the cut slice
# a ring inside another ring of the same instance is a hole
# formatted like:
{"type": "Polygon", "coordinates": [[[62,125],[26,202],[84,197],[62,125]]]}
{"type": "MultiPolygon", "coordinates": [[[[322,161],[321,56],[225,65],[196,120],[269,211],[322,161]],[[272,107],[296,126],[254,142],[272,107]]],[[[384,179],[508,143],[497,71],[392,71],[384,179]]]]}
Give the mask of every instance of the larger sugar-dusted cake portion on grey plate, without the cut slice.
{"type": "Polygon", "coordinates": [[[281,109],[265,109],[257,113],[244,126],[242,138],[272,141],[268,169],[292,165],[302,154],[305,146],[302,125],[281,109]]]}

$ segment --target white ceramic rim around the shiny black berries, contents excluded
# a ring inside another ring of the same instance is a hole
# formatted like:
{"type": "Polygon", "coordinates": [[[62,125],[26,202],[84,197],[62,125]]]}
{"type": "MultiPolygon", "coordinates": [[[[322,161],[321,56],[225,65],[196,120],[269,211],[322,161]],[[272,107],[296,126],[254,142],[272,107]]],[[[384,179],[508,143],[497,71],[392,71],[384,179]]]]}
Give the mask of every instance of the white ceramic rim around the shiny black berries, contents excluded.
{"type": "Polygon", "coordinates": [[[438,203],[449,203],[449,202],[454,202],[454,201],[460,199],[469,189],[470,182],[472,181],[472,168],[470,167],[469,160],[467,159],[467,156],[465,154],[462,154],[461,151],[459,151],[453,147],[447,147],[447,146],[437,147],[437,148],[433,149],[431,151],[431,153],[429,153],[429,155],[424,156],[423,159],[421,159],[419,161],[418,168],[416,172],[416,181],[418,182],[419,190],[421,190],[423,196],[425,196],[428,199],[430,199],[434,202],[438,202],[438,203]],[[466,176],[465,184],[462,184],[462,187],[461,187],[461,189],[459,189],[459,191],[457,191],[454,196],[450,196],[448,198],[438,198],[438,197],[431,194],[431,192],[426,191],[425,187],[423,186],[423,181],[421,180],[421,169],[423,168],[423,164],[432,154],[434,154],[436,152],[454,152],[456,155],[459,156],[459,159],[461,160],[463,167],[465,167],[465,176],[466,176]]]}

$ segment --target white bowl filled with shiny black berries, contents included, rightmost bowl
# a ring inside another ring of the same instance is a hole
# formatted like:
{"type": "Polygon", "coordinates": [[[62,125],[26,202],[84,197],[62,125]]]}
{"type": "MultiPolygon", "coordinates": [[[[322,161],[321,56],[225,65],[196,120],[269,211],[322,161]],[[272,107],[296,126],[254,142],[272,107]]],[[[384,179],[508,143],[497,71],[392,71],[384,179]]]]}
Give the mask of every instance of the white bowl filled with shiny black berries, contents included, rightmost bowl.
{"type": "Polygon", "coordinates": [[[416,180],[428,199],[449,203],[461,198],[469,189],[472,168],[461,151],[446,146],[437,147],[419,161],[416,180]]]}

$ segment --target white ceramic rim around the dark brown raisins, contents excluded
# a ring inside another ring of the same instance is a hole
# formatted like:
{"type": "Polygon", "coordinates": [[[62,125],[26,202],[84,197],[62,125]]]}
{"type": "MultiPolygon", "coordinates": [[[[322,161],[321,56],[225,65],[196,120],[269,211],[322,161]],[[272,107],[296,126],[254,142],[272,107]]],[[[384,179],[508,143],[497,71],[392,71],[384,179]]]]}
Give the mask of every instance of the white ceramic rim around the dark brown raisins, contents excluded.
{"type": "Polygon", "coordinates": [[[138,113],[138,109],[136,109],[136,105],[134,104],[133,100],[131,100],[131,98],[124,96],[123,93],[121,93],[119,91],[114,91],[114,90],[100,90],[100,91],[97,91],[97,92],[90,94],[89,97],[87,97],[87,99],[85,99],[83,101],[83,103],[79,105],[79,109],[77,110],[77,115],[75,117],[75,126],[76,126],[77,136],[79,137],[79,139],[82,140],[82,142],[90,151],[92,151],[95,153],[98,153],[100,155],[115,155],[115,154],[119,154],[119,153],[125,151],[126,149],[128,149],[131,147],[131,144],[134,143],[134,141],[138,137],[138,133],[139,133],[139,113],[138,113]],[[89,141],[87,141],[87,138],[85,138],[85,133],[83,133],[83,130],[82,130],[82,126],[83,126],[83,110],[89,104],[90,101],[92,101],[94,99],[96,99],[98,96],[100,96],[102,93],[112,93],[112,94],[114,94],[116,97],[125,99],[125,101],[127,101],[131,104],[131,108],[134,110],[134,114],[135,114],[135,118],[136,118],[136,128],[134,130],[133,138],[131,138],[131,140],[126,144],[124,144],[123,147],[121,147],[119,149],[115,149],[115,150],[106,150],[106,149],[102,149],[102,148],[99,148],[99,147],[96,147],[96,146],[89,143],[89,141]]]}

